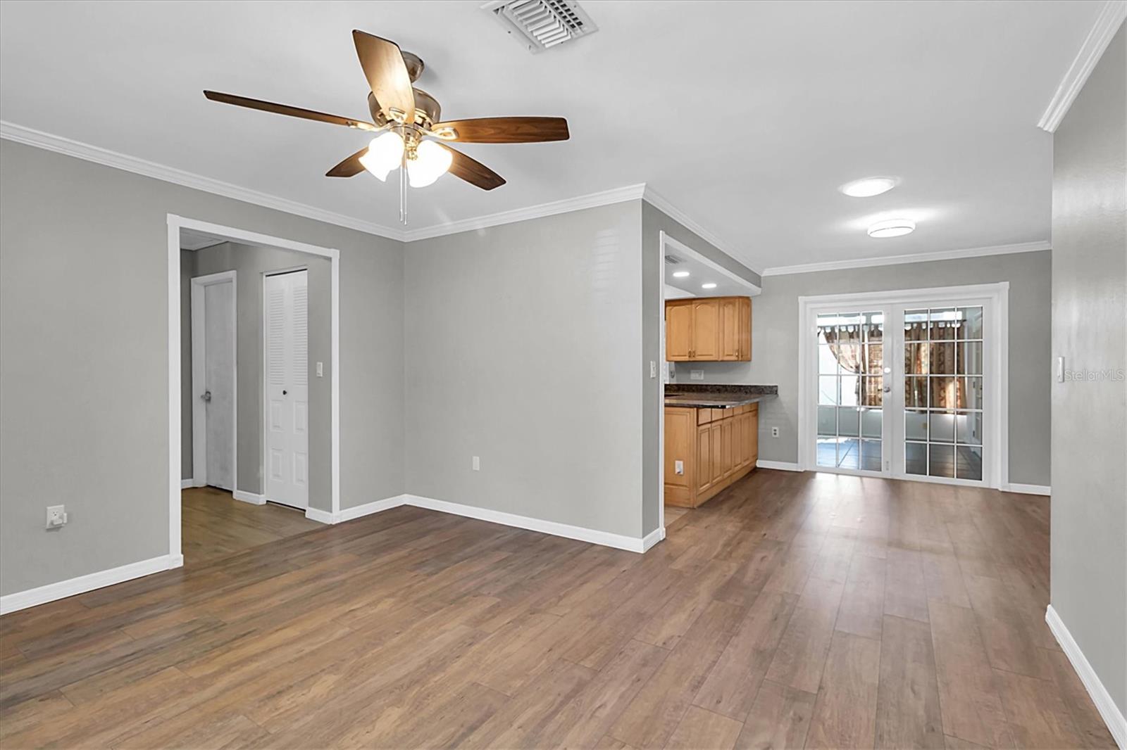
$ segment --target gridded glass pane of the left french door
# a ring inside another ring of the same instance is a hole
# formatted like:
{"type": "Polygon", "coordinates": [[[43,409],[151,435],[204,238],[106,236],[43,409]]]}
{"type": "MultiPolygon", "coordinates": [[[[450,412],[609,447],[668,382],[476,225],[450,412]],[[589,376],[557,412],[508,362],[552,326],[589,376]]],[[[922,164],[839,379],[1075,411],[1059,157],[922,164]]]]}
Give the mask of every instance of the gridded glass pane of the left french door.
{"type": "Polygon", "coordinates": [[[817,316],[816,463],[880,472],[884,461],[885,314],[817,316]]]}

